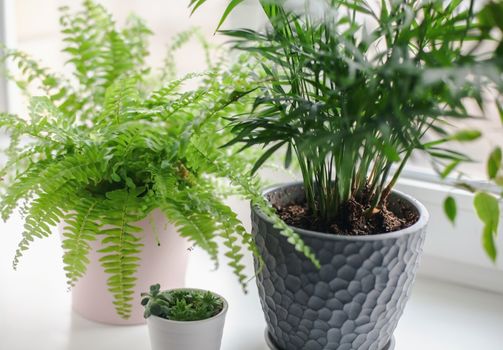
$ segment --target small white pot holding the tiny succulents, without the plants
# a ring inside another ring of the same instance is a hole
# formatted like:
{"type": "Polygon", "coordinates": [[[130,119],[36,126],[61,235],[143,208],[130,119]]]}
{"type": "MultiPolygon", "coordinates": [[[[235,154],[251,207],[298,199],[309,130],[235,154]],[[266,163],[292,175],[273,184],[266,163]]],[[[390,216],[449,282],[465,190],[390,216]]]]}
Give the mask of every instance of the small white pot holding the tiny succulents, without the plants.
{"type": "Polygon", "coordinates": [[[228,304],[223,297],[213,294],[224,305],[211,318],[200,321],[173,321],[153,315],[147,318],[152,350],[220,350],[228,304]]]}

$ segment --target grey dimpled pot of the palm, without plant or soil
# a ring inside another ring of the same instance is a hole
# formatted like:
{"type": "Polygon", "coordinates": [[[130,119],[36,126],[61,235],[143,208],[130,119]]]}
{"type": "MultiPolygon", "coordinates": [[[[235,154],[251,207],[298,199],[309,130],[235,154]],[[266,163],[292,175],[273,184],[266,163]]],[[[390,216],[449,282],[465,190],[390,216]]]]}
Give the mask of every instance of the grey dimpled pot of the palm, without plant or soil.
{"type": "MultiPolygon", "coordinates": [[[[275,204],[298,202],[295,183],[265,193],[275,204]]],[[[409,228],[371,236],[295,229],[318,257],[317,269],[252,208],[252,232],[265,265],[257,286],[268,332],[280,350],[384,350],[409,298],[422,251],[428,212],[394,192],[419,214],[409,228]]],[[[256,263],[257,265],[257,263],[256,263]]]]}

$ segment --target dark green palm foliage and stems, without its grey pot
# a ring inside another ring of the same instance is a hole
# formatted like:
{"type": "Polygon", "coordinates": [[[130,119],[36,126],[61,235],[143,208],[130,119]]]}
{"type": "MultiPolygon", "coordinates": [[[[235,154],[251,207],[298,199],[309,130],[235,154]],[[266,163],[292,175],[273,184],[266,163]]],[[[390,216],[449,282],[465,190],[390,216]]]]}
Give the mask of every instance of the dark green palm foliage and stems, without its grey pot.
{"type": "MultiPolygon", "coordinates": [[[[241,2],[229,2],[220,25],[241,2]]],[[[256,55],[266,75],[253,110],[233,119],[228,145],[263,146],[253,170],[286,149],[285,166],[298,161],[317,229],[365,233],[345,218],[386,214],[414,150],[449,171],[470,160],[444,143],[480,136],[452,128],[472,117],[467,101],[483,108],[485,88],[501,84],[501,45],[475,1],[322,0],[301,11],[259,2],[265,32],[222,31],[256,55]],[[425,141],[426,133],[436,138],[425,141]]]]}

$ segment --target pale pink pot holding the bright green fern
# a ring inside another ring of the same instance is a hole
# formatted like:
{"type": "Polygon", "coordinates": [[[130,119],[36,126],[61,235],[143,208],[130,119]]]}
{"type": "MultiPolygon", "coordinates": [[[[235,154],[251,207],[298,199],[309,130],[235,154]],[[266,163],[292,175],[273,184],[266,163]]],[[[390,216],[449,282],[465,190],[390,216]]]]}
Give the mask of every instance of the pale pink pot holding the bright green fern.
{"type": "Polygon", "coordinates": [[[153,211],[150,217],[137,222],[135,226],[143,229],[141,236],[144,246],[139,256],[141,261],[137,272],[138,280],[134,289],[131,317],[124,320],[115,312],[112,295],[106,285],[108,276],[99,262],[102,255],[97,253],[97,250],[102,246],[98,239],[91,244],[87,273],[72,289],[73,309],[85,318],[114,325],[143,324],[145,323],[143,306],[140,305],[142,292],[147,292],[150,285],[155,283],[159,283],[162,289],[185,286],[189,254],[187,240],[180,237],[160,210],[153,211]],[[160,246],[157,244],[156,236],[161,243],[160,246]]]}

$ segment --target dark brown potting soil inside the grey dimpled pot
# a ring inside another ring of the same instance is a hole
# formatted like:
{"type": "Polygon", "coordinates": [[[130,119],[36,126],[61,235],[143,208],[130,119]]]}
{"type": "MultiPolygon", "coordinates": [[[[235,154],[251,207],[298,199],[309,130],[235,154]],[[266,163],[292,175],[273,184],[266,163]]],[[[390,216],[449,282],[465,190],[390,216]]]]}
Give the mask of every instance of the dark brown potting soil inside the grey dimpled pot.
{"type": "Polygon", "coordinates": [[[371,215],[365,215],[367,207],[355,199],[349,201],[334,222],[324,225],[308,209],[307,203],[294,203],[283,207],[275,206],[278,215],[290,226],[310,231],[328,232],[339,235],[373,235],[402,230],[412,226],[419,215],[410,205],[398,199],[394,203],[400,216],[385,204],[371,215]]]}

